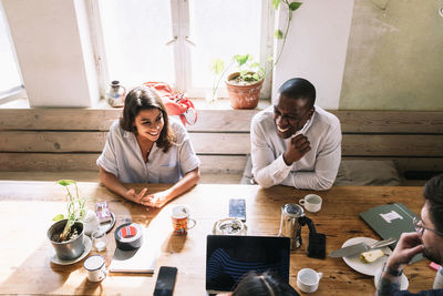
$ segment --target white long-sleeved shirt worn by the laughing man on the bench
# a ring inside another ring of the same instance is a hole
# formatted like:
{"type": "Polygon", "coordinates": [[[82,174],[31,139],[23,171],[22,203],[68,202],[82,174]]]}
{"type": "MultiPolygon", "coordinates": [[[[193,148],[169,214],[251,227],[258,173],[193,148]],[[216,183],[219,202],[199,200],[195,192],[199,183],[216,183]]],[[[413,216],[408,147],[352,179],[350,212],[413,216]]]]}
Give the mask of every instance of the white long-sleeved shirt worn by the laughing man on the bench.
{"type": "Polygon", "coordinates": [[[308,137],[311,150],[299,161],[286,165],[282,154],[289,139],[277,134],[274,106],[257,113],[251,121],[251,161],[255,181],[262,187],[287,185],[306,190],[332,186],[341,160],[341,129],[336,115],[315,106],[316,111],[297,134],[308,137]]]}

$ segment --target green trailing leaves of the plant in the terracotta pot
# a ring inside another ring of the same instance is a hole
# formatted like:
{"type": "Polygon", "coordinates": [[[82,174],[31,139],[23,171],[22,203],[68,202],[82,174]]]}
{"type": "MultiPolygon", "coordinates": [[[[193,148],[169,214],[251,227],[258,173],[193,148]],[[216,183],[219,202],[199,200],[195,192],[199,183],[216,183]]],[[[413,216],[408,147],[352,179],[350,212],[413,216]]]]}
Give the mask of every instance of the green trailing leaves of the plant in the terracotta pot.
{"type": "Polygon", "coordinates": [[[267,59],[267,63],[270,63],[269,70],[266,71],[265,67],[260,67],[258,62],[255,62],[253,59],[253,55],[249,53],[246,54],[235,54],[231,59],[230,62],[227,67],[225,67],[225,62],[222,59],[216,59],[213,61],[210,69],[212,72],[214,73],[214,83],[213,83],[213,98],[216,95],[218,85],[222,81],[222,79],[225,76],[226,72],[234,65],[237,64],[237,69],[239,71],[239,75],[235,78],[235,81],[237,84],[248,84],[248,83],[255,83],[257,81],[260,81],[261,79],[265,79],[270,71],[278,64],[281,58],[281,53],[284,52],[285,44],[286,44],[286,39],[289,33],[289,28],[290,23],[292,21],[292,13],[297,9],[300,8],[301,2],[298,1],[289,1],[289,0],[271,0],[272,6],[275,10],[278,10],[280,7],[280,3],[284,3],[288,7],[288,21],[286,23],[286,28],[284,31],[280,29],[277,29],[274,32],[274,35],[276,39],[281,39],[282,44],[280,47],[280,50],[277,52],[276,57],[277,59],[274,61],[272,57],[269,57],[267,59]]]}

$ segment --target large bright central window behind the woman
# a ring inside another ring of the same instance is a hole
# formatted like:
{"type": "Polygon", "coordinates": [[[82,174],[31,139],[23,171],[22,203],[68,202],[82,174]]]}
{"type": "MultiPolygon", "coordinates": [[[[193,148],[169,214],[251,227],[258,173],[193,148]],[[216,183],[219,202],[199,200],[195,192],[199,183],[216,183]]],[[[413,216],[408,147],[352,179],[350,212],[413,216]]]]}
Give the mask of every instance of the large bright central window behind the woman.
{"type": "Polygon", "coordinates": [[[228,64],[234,54],[251,53],[265,63],[271,55],[270,2],[97,0],[105,81],[125,86],[165,81],[190,96],[205,96],[213,86],[214,59],[228,64]]]}

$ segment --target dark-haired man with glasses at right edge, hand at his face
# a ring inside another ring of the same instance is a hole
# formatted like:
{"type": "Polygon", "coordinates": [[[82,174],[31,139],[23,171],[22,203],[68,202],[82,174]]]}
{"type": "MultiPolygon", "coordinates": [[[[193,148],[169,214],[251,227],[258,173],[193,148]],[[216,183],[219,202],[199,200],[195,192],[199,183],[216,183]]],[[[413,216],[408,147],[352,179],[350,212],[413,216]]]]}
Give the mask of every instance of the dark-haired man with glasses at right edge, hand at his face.
{"type": "Polygon", "coordinates": [[[400,292],[403,266],[416,254],[422,253],[430,261],[443,264],[443,174],[427,181],[423,197],[421,220],[414,220],[415,233],[403,233],[400,237],[384,265],[377,295],[443,295],[443,288],[419,294],[400,292]]]}

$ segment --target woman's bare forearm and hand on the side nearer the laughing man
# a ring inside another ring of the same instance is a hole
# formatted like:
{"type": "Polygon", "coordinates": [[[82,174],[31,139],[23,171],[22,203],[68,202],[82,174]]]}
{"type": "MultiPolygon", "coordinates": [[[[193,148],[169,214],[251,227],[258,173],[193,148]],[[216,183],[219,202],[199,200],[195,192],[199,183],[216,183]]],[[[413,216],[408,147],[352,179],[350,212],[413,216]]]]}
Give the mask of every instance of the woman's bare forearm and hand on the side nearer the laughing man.
{"type": "Polygon", "coordinates": [[[200,173],[198,167],[196,167],[190,172],[187,172],[183,178],[175,183],[171,188],[144,196],[141,203],[146,206],[162,207],[171,200],[174,200],[182,193],[192,188],[195,184],[197,184],[199,178],[200,173]]]}

